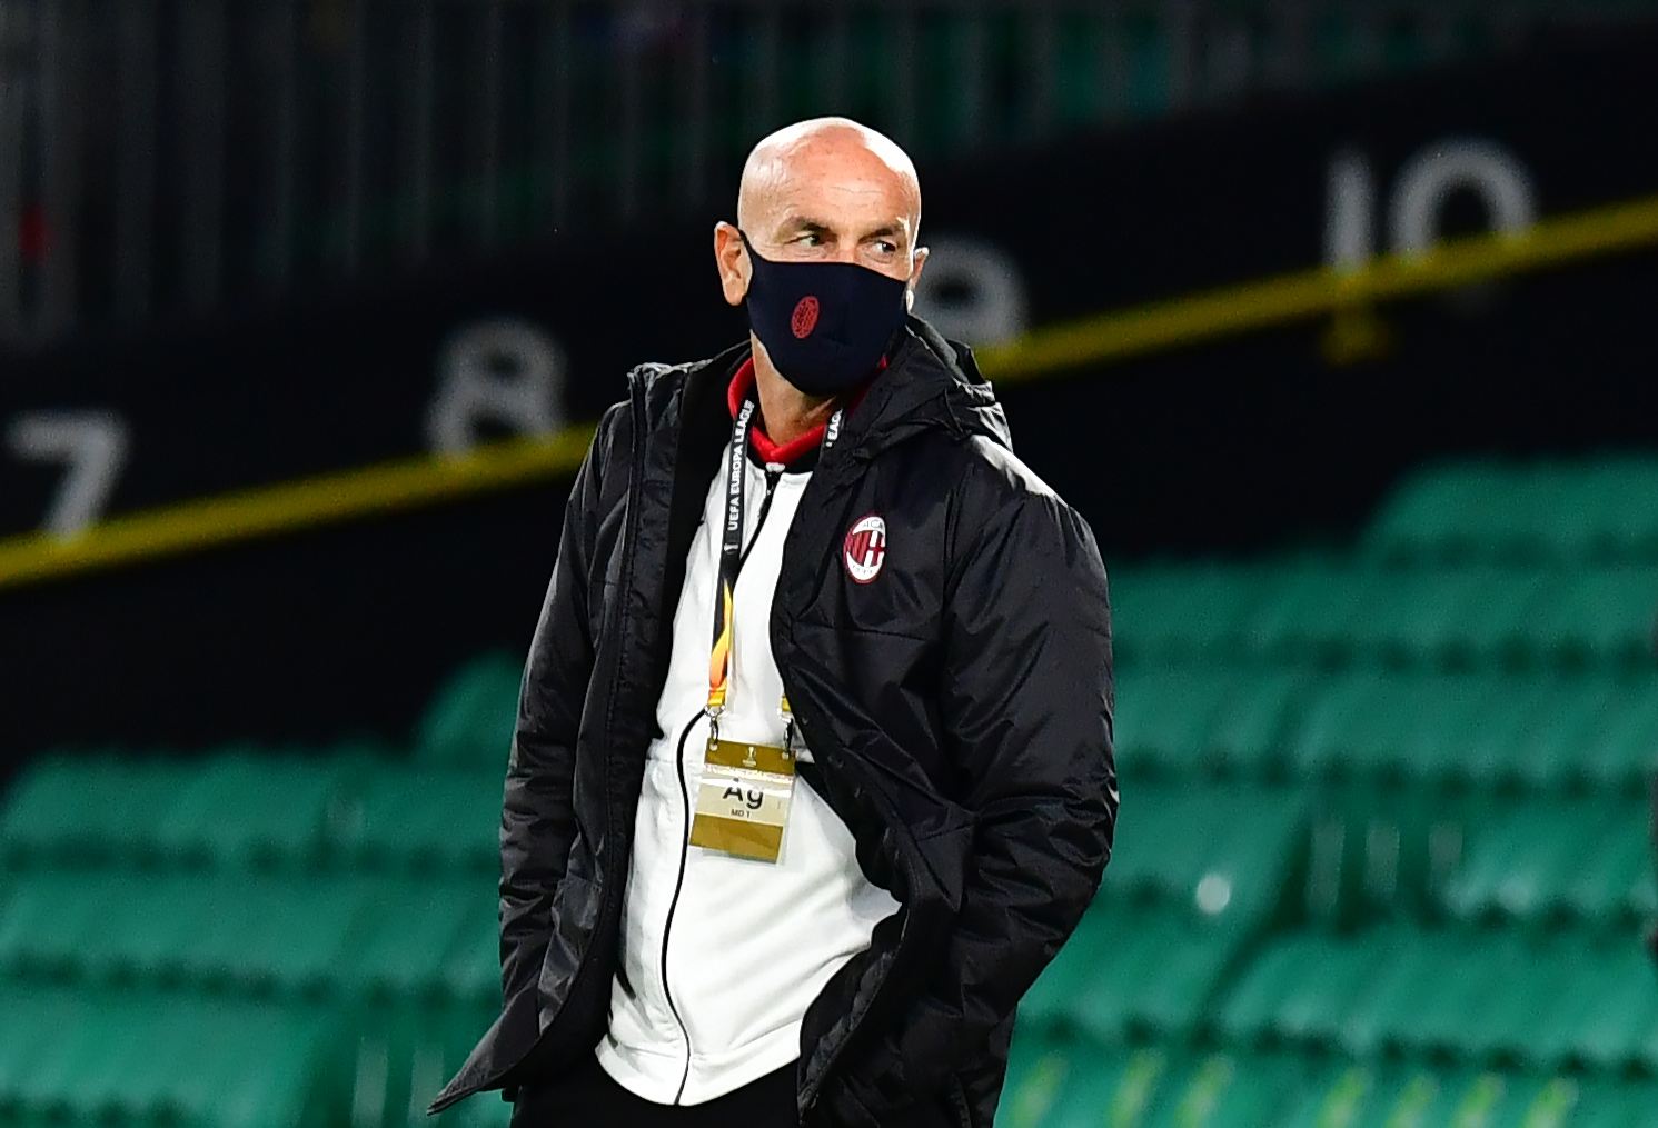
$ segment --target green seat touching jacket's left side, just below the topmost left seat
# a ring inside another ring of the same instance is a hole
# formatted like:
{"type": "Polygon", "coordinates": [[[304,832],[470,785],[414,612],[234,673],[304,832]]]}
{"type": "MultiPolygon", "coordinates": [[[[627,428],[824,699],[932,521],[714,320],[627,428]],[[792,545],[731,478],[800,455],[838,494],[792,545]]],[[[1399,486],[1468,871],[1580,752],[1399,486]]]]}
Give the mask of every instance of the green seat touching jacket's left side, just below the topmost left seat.
{"type": "Polygon", "coordinates": [[[383,767],[342,803],[335,848],[355,865],[473,870],[501,865],[504,769],[383,767]]]}

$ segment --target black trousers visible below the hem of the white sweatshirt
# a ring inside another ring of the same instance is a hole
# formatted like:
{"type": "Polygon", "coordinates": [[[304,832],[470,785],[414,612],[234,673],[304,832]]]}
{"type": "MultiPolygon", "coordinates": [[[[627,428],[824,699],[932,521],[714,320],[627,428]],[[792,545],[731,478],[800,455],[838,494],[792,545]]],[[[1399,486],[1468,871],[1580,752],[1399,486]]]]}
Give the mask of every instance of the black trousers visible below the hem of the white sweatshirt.
{"type": "Polygon", "coordinates": [[[794,1062],[701,1105],[658,1105],[589,1055],[574,1073],[519,1088],[512,1128],[799,1128],[794,1062]]]}

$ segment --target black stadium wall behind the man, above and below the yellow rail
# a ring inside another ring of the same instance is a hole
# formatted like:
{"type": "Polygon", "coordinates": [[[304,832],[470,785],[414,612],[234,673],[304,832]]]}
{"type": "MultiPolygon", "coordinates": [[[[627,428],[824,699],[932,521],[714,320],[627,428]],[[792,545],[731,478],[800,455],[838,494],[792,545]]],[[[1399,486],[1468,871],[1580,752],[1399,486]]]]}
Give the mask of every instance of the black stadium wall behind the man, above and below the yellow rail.
{"type": "MultiPolygon", "coordinates": [[[[924,242],[998,253],[1040,328],[1391,250],[1409,227],[1401,199],[1436,159],[1494,164],[1524,195],[1497,204],[1540,217],[1658,194],[1653,58],[1658,35],[1623,31],[924,169],[924,242]]],[[[1442,204],[1442,234],[1492,215],[1471,190],[1442,204]]],[[[527,328],[527,354],[562,374],[554,407],[590,419],[630,364],[743,331],[708,265],[711,219],[10,358],[0,424],[106,412],[129,451],[106,512],[162,505],[428,449],[456,341],[501,325],[527,328]]],[[[1658,442],[1655,296],[1658,255],[1628,253],[1388,305],[1371,348],[1341,364],[1321,348],[1330,326],[1308,323],[1001,394],[1023,457],[1114,557],[1325,540],[1424,457],[1658,442]]],[[[40,523],[60,477],[0,456],[0,533],[40,523]]],[[[398,737],[456,661],[527,643],[562,490],[0,590],[0,762],[66,742],[398,737]]]]}

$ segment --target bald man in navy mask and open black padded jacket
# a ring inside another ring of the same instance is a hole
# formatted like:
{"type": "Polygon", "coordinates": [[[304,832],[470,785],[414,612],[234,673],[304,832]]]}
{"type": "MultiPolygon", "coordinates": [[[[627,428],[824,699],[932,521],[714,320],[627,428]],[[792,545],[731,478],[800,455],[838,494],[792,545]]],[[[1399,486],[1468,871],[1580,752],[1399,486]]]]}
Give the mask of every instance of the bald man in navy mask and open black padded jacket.
{"type": "Polygon", "coordinates": [[[501,825],[501,1017],[433,1110],[990,1128],[1111,853],[1088,525],[909,316],[920,186],[783,129],[715,229],[749,336],[645,364],[570,492],[501,825]]]}

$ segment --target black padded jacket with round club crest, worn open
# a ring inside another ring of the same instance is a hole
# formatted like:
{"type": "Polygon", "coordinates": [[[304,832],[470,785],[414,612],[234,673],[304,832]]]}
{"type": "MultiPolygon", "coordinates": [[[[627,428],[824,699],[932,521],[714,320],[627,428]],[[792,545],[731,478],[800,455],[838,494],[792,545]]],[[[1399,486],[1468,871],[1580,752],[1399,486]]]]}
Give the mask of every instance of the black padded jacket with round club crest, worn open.
{"type": "MultiPolygon", "coordinates": [[[[633,371],[570,492],[506,779],[502,1010],[433,1111],[605,1035],[645,750],[746,354],[633,371]]],[[[889,358],[811,477],[771,616],[807,783],[900,904],[806,1014],[799,1108],[990,1128],[1015,1005],[1111,853],[1106,573],[965,346],[910,318],[889,358]],[[842,542],[867,513],[887,555],[854,583],[842,542]]]]}

